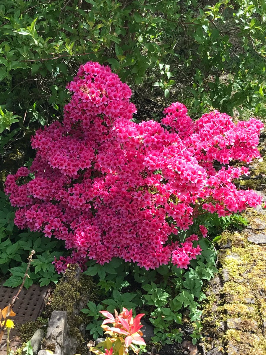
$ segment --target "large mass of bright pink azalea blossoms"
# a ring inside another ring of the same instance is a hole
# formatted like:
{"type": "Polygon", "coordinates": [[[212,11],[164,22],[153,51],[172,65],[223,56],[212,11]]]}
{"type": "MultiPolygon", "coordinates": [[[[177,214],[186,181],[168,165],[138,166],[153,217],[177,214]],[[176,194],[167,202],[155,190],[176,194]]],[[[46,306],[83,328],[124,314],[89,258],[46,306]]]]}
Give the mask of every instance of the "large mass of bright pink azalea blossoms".
{"type": "Polygon", "coordinates": [[[82,65],[67,88],[72,98],[63,122],[36,132],[31,168],[7,176],[5,188],[19,228],[53,235],[72,250],[56,261],[59,272],[69,262],[104,264],[112,257],[146,269],[171,260],[187,268],[207,229],[200,226],[181,244],[179,233],[198,215],[225,216],[261,203],[254,191],[233,184],[248,168],[228,165],[260,157],[259,120],[235,124],[214,111],[193,121],[173,103],[160,123],[134,123],[131,90],[95,62],[82,65]]]}

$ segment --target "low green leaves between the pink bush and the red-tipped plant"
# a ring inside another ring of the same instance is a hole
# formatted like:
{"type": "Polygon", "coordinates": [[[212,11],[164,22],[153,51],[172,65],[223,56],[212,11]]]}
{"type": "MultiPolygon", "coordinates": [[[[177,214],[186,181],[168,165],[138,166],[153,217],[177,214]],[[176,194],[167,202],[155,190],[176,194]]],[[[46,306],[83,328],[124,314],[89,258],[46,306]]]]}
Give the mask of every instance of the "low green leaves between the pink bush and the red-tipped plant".
{"type": "MultiPolygon", "coordinates": [[[[200,246],[202,255],[198,260],[193,260],[187,270],[163,265],[156,270],[147,271],[119,259],[99,267],[90,266],[90,261],[84,273],[95,275],[100,286],[99,302],[89,301],[82,312],[89,317],[87,330],[94,339],[101,335],[102,320],[99,310],[113,313],[114,309],[121,311],[126,307],[136,310],[137,313],[146,313],[155,327],[154,342],[181,342],[180,327],[184,311],[188,310],[190,320],[198,324],[196,322],[199,322],[201,317],[199,302],[205,298],[202,291],[203,281],[210,280],[217,272],[216,253],[211,242],[202,240],[200,246]]],[[[195,331],[193,339],[199,339],[197,336],[195,331]]]]}

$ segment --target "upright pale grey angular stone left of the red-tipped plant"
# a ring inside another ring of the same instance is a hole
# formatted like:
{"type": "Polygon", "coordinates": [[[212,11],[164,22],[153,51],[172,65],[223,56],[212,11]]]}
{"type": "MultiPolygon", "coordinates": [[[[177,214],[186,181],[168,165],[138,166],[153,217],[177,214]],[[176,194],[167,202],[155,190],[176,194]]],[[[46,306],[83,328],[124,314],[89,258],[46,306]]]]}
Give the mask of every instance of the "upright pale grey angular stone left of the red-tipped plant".
{"type": "Polygon", "coordinates": [[[48,342],[49,340],[51,342],[55,342],[61,349],[63,349],[67,336],[67,330],[67,312],[53,311],[46,335],[48,342]]]}

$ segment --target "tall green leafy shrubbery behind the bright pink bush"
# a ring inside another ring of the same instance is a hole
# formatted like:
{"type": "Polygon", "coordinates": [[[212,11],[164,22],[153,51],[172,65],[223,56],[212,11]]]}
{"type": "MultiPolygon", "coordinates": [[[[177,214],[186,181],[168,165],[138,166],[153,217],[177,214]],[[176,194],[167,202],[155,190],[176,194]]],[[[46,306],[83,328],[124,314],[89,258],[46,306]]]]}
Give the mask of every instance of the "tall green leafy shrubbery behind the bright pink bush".
{"type": "Polygon", "coordinates": [[[13,122],[21,137],[60,118],[66,82],[88,60],[109,64],[141,100],[163,93],[190,100],[195,116],[265,116],[265,16],[264,0],[0,0],[1,130],[13,122]]]}

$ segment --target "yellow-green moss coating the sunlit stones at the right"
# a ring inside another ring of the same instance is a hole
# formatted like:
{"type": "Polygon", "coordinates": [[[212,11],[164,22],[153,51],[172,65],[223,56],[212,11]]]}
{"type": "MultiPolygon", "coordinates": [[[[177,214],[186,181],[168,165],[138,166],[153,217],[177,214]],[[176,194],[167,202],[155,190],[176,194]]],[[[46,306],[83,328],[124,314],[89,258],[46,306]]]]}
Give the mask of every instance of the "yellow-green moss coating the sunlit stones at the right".
{"type": "MultiPolygon", "coordinates": [[[[266,222],[266,215],[255,210],[247,211],[245,217],[254,225],[252,219],[258,215],[266,222]]],[[[213,341],[223,344],[230,355],[266,355],[266,337],[262,331],[266,318],[266,248],[249,243],[245,231],[224,232],[218,244],[222,247],[229,242],[231,247],[218,254],[219,271],[226,271],[228,280],[218,294],[211,285],[207,289],[203,305],[204,331],[215,339],[213,341]],[[229,318],[241,318],[242,329],[219,330],[221,322],[229,318]]],[[[208,341],[205,338],[206,349],[208,341]]]]}

